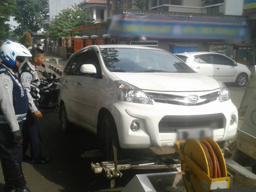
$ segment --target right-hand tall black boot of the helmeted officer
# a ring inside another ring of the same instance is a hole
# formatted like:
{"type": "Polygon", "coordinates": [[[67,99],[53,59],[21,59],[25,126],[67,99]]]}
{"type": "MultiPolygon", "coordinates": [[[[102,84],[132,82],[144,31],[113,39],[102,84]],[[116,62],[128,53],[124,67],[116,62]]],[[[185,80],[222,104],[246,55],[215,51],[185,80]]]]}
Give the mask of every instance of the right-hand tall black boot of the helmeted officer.
{"type": "Polygon", "coordinates": [[[21,162],[7,161],[7,169],[11,175],[13,185],[15,186],[15,192],[31,192],[26,187],[26,181],[22,173],[21,162]]]}

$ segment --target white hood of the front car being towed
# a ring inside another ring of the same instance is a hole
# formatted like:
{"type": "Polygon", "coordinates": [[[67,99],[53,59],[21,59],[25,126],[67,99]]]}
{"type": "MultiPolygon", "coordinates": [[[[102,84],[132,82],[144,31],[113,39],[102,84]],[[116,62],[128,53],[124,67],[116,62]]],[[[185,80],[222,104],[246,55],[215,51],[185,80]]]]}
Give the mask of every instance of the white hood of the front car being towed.
{"type": "Polygon", "coordinates": [[[121,81],[142,90],[210,91],[219,88],[212,78],[198,73],[113,73],[121,81]]]}

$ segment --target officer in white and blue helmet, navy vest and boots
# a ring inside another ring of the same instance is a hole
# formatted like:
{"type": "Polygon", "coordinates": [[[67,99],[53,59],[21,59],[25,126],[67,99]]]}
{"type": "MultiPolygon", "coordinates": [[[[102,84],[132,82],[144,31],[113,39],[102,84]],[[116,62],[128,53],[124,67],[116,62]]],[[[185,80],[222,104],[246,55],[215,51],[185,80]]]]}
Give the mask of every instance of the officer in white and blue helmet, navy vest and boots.
{"type": "Polygon", "coordinates": [[[23,45],[3,43],[0,51],[0,158],[6,192],[30,191],[22,173],[22,123],[29,103],[26,90],[15,75],[25,57],[31,57],[23,45]]]}

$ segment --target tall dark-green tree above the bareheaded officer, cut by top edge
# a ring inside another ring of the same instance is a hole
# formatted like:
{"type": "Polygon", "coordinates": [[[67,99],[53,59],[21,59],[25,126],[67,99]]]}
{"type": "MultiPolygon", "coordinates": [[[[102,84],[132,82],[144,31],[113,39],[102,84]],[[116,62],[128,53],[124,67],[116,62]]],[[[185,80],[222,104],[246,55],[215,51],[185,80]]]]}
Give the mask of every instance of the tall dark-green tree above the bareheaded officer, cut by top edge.
{"type": "Polygon", "coordinates": [[[19,23],[15,33],[22,35],[25,31],[36,32],[42,27],[46,0],[16,0],[15,18],[19,23]]]}

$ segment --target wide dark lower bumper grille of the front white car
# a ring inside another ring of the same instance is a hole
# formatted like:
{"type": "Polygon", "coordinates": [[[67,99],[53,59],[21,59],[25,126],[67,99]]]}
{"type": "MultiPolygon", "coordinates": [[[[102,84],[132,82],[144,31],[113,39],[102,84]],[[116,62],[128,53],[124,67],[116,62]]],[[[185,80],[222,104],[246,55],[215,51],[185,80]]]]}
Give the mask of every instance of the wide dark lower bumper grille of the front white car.
{"type": "Polygon", "coordinates": [[[175,133],[178,129],[222,129],[226,118],[222,113],[210,115],[167,115],[159,122],[159,133],[175,133]]]}

